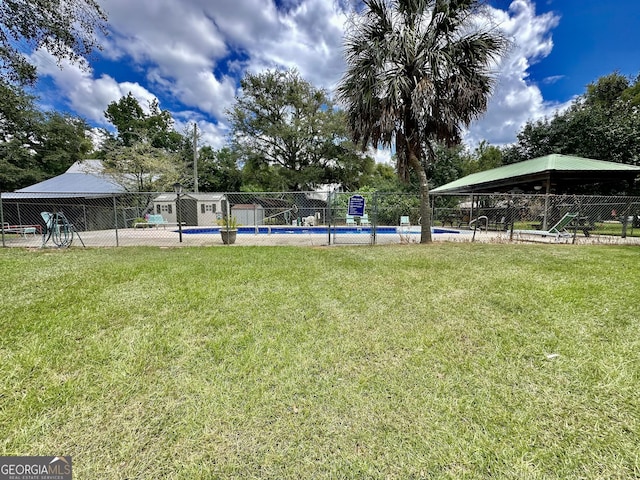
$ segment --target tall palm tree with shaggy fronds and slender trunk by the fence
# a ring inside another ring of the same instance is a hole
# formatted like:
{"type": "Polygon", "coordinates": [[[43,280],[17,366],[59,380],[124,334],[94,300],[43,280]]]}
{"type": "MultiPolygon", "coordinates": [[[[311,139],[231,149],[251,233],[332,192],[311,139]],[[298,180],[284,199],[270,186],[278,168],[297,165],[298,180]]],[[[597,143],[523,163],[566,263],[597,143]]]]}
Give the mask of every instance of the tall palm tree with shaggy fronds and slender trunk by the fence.
{"type": "Polygon", "coordinates": [[[397,173],[420,178],[421,243],[431,242],[426,169],[436,142],[460,143],[494,84],[505,37],[479,0],[364,0],[345,36],[337,89],[355,142],[391,147],[397,173]]]}

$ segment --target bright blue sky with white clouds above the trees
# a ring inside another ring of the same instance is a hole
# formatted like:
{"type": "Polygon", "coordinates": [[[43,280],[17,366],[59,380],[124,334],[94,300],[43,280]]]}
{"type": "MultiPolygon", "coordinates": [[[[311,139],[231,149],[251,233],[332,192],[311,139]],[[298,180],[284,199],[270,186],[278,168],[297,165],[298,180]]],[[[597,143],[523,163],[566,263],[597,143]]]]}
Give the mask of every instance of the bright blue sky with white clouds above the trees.
{"type": "MultiPolygon", "coordinates": [[[[100,0],[109,35],[85,65],[33,54],[44,108],[113,129],[103,112],[131,92],[157,98],[175,128],[197,123],[200,145],[225,145],[225,111],[246,72],[296,68],[330,93],[345,69],[347,8],[357,0],[100,0]]],[[[488,0],[511,40],[485,115],[465,135],[473,148],[516,141],[527,121],[565,108],[589,83],[640,74],[640,1],[488,0]]],[[[377,152],[380,161],[389,152],[377,152]]]]}

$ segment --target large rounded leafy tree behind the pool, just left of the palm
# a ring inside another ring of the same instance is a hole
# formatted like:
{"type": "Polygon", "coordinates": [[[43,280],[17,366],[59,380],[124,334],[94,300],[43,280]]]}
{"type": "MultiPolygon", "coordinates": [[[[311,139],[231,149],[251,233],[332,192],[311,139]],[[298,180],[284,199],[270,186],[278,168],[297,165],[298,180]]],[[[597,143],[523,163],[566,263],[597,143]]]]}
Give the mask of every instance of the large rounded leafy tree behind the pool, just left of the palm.
{"type": "Polygon", "coordinates": [[[296,71],[248,74],[241,86],[228,116],[233,149],[255,182],[310,190],[372,168],[349,140],[344,113],[296,71]]]}

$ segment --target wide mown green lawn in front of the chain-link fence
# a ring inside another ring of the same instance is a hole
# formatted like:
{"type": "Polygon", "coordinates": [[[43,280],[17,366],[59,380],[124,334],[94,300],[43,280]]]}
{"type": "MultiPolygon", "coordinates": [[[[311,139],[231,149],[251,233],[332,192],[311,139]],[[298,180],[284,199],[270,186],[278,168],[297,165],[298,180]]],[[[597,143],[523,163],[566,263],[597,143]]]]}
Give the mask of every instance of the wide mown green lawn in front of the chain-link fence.
{"type": "Polygon", "coordinates": [[[0,455],[74,478],[640,476],[637,247],[0,251],[0,455]]]}

